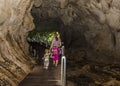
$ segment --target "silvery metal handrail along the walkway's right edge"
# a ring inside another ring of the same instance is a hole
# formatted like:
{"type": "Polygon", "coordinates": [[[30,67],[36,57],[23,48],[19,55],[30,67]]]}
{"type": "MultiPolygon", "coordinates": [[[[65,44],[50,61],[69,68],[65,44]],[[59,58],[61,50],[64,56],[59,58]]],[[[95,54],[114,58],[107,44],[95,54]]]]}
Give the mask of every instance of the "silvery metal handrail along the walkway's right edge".
{"type": "Polygon", "coordinates": [[[62,46],[61,58],[61,85],[66,86],[66,57],[64,56],[64,46],[62,46]]]}

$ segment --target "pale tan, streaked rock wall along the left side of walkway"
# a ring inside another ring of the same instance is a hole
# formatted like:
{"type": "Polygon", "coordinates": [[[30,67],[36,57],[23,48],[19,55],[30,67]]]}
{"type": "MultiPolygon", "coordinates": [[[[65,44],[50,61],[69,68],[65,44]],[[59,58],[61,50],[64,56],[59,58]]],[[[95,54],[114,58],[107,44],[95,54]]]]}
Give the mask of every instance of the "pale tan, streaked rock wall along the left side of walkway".
{"type": "Polygon", "coordinates": [[[17,86],[34,61],[26,35],[34,28],[32,0],[0,0],[0,86],[17,86]]]}

